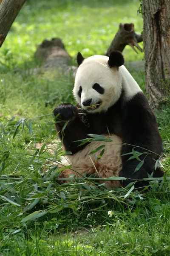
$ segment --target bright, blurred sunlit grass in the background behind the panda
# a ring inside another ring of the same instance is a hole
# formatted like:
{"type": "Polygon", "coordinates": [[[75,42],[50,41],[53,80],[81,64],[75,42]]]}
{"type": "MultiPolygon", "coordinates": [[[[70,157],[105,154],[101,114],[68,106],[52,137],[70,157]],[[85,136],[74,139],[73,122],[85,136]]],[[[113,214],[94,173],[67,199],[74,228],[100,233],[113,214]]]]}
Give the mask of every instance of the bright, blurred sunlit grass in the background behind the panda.
{"type": "MultiPolygon", "coordinates": [[[[78,51],[85,57],[105,54],[119,23],[134,23],[135,31],[142,32],[138,8],[139,0],[30,0],[14,21],[2,49],[11,49],[17,63],[23,63],[34,55],[42,40],[59,37],[73,57],[78,51]]],[[[144,56],[135,54],[129,46],[124,54],[127,61],[144,56]]]]}

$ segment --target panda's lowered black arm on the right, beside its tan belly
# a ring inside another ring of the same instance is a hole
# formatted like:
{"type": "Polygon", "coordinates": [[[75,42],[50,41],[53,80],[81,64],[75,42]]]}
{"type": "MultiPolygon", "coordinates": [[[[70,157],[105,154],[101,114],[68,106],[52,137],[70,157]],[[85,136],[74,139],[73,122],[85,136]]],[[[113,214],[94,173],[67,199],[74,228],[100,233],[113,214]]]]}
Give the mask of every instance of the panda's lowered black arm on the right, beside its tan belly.
{"type": "MultiPolygon", "coordinates": [[[[122,170],[119,175],[128,178],[123,182],[123,185],[127,186],[136,179],[147,177],[147,173],[151,174],[155,170],[155,160],[159,159],[162,152],[156,117],[142,92],[122,106],[122,128],[122,142],[125,143],[122,145],[122,154],[132,152],[134,148],[135,151],[143,153],[139,158],[144,160],[139,171],[134,173],[139,160],[128,160],[132,155],[122,156],[122,170]]],[[[142,182],[137,184],[138,187],[143,185],[142,182]]]]}

